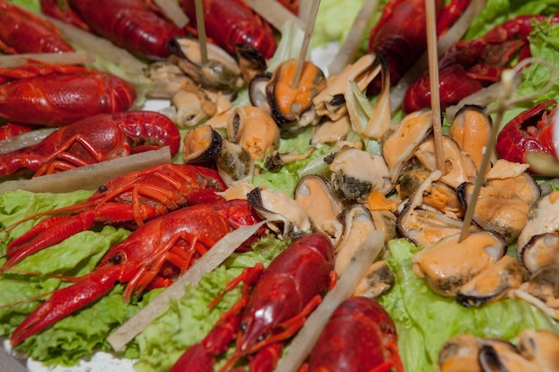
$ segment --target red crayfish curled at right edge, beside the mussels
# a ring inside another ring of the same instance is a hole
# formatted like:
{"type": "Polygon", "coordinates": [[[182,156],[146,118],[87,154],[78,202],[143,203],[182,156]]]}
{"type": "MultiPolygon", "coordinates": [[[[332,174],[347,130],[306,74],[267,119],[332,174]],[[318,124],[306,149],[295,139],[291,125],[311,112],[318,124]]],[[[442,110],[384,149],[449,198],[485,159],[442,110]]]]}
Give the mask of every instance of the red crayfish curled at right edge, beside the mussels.
{"type": "Polygon", "coordinates": [[[497,157],[526,163],[526,153],[539,151],[555,156],[553,126],[557,102],[538,103],[509,121],[496,138],[497,157]]]}

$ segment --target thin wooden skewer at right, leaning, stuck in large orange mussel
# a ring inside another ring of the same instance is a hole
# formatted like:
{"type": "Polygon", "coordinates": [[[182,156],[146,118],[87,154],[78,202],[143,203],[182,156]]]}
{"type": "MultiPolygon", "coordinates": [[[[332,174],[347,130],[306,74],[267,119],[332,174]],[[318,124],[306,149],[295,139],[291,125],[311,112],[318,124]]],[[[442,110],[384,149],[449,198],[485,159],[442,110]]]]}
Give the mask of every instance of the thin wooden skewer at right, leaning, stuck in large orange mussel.
{"type": "Polygon", "coordinates": [[[462,231],[460,233],[460,239],[458,243],[462,242],[463,239],[468,235],[470,230],[471,219],[473,218],[473,212],[476,209],[476,204],[478,203],[478,195],[480,194],[480,189],[483,184],[485,184],[485,176],[487,174],[487,169],[491,156],[495,149],[496,135],[501,128],[501,121],[503,121],[503,115],[505,115],[505,110],[509,105],[510,98],[514,93],[514,72],[513,70],[503,70],[501,73],[501,81],[503,82],[503,96],[498,100],[498,106],[496,110],[496,119],[489,133],[488,144],[485,146],[485,153],[483,153],[483,159],[481,159],[480,170],[478,171],[478,178],[473,185],[473,191],[471,193],[470,200],[468,202],[468,207],[466,208],[466,214],[463,219],[462,231]]]}

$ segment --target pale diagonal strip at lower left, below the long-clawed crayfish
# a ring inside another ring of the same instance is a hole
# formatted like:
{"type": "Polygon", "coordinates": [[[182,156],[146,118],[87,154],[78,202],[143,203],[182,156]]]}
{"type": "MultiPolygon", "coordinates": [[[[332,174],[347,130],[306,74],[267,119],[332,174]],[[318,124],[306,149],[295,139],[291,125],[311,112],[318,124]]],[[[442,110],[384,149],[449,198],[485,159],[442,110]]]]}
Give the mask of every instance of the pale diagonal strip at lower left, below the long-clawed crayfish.
{"type": "Polygon", "coordinates": [[[113,334],[107,337],[115,351],[124,350],[127,343],[142,332],[159,314],[169,305],[172,299],[182,297],[186,293],[187,285],[196,285],[205,274],[221,265],[231,253],[243,244],[246,239],[253,236],[259,227],[266,221],[254,225],[239,227],[223,236],[220,241],[213,245],[212,249],[200,257],[187,272],[179,277],[172,285],[160,293],[154,301],[149,302],[146,307],[139,310],[136,315],[117,328],[113,334]]]}

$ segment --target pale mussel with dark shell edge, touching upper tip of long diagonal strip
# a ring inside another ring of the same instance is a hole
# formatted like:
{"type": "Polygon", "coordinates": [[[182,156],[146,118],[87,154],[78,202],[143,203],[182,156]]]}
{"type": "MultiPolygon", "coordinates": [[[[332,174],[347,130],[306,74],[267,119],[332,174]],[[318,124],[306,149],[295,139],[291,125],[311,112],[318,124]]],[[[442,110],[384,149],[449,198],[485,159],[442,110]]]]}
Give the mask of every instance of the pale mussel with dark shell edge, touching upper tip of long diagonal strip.
{"type": "Polygon", "coordinates": [[[311,231],[311,220],[305,209],[285,193],[255,187],[246,200],[267,219],[267,226],[280,238],[303,236],[311,231]]]}

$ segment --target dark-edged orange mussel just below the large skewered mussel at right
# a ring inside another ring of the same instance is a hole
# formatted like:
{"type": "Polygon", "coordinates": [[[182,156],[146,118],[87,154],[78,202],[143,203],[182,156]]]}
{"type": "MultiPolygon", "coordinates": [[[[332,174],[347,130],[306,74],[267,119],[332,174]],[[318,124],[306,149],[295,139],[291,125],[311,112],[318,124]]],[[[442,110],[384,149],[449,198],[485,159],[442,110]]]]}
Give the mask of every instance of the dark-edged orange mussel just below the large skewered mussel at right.
{"type": "Polygon", "coordinates": [[[456,302],[465,307],[480,307],[503,298],[509,290],[520,287],[529,277],[519,260],[505,255],[462,285],[456,293],[456,302]]]}

